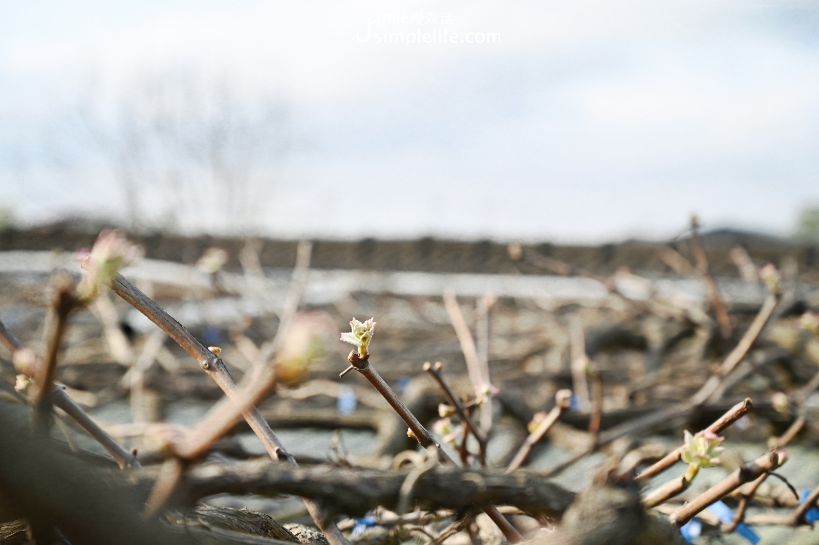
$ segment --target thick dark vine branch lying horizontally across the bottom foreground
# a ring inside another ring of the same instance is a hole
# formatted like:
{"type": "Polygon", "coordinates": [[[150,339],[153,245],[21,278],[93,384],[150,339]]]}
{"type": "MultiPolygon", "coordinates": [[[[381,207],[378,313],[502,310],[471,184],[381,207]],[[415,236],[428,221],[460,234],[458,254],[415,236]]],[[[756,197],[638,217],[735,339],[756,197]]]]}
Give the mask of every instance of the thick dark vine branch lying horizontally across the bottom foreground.
{"type": "MultiPolygon", "coordinates": [[[[132,484],[140,495],[147,495],[160,471],[160,467],[147,466],[114,476],[132,484]]],[[[266,459],[208,462],[188,468],[178,493],[186,501],[215,493],[294,494],[321,501],[331,514],[361,516],[373,506],[395,509],[401,486],[411,471],[328,465],[296,467],[266,459]]],[[[534,471],[503,474],[454,465],[438,465],[423,471],[412,493],[414,501],[429,507],[464,511],[476,504],[497,502],[552,517],[562,515],[574,498],[575,493],[534,471]]]]}

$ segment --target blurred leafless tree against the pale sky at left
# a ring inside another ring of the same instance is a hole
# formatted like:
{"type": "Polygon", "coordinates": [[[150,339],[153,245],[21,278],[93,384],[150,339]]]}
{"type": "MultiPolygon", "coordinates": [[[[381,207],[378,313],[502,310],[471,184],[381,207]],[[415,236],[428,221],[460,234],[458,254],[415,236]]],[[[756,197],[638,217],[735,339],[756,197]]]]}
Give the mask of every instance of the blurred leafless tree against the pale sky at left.
{"type": "Polygon", "coordinates": [[[228,77],[150,74],[81,115],[124,198],[129,226],[245,234],[260,227],[287,153],[281,101],[228,77]]]}

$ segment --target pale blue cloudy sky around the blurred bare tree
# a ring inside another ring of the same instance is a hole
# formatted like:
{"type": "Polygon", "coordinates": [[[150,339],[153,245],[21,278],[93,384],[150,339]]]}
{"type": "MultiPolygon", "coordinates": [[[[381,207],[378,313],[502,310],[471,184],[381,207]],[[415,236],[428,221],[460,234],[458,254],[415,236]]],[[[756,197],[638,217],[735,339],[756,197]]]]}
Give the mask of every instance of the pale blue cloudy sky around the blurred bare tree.
{"type": "Polygon", "coordinates": [[[268,234],[595,242],[691,213],[787,233],[819,203],[817,2],[0,10],[0,205],[27,221],[121,215],[77,105],[179,71],[287,111],[268,234]]]}

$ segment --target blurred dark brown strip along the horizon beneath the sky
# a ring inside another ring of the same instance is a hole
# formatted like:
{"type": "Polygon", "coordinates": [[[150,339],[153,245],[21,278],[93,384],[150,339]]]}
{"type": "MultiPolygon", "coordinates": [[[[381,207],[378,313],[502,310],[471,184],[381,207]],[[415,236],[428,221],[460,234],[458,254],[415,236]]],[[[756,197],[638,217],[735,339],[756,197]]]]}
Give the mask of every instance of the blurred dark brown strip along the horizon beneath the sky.
{"type": "MultiPolygon", "coordinates": [[[[29,229],[6,229],[0,232],[2,250],[66,250],[89,248],[102,225],[93,222],[61,222],[29,229]]],[[[174,234],[139,234],[133,239],[146,247],[147,257],[183,263],[195,262],[210,246],[220,246],[231,256],[228,268],[239,269],[238,254],[245,240],[215,236],[180,236],[174,234]]],[[[718,229],[702,235],[713,272],[718,276],[738,276],[729,250],[741,245],[758,264],[781,263],[792,256],[800,273],[819,280],[819,245],[798,243],[758,232],[718,229]]],[[[260,262],[267,268],[292,267],[296,241],[261,239],[260,262]]],[[[609,275],[627,267],[636,272],[668,272],[658,258],[658,250],[671,245],[690,258],[689,240],[681,238],[668,243],[624,241],[604,245],[555,245],[550,242],[523,245],[524,255],[557,259],[600,275],[609,275]]],[[[544,269],[536,259],[514,259],[507,244],[495,241],[451,241],[420,238],[410,241],[314,241],[311,266],[320,269],[371,269],[428,272],[491,272],[541,274],[544,269]]]]}

